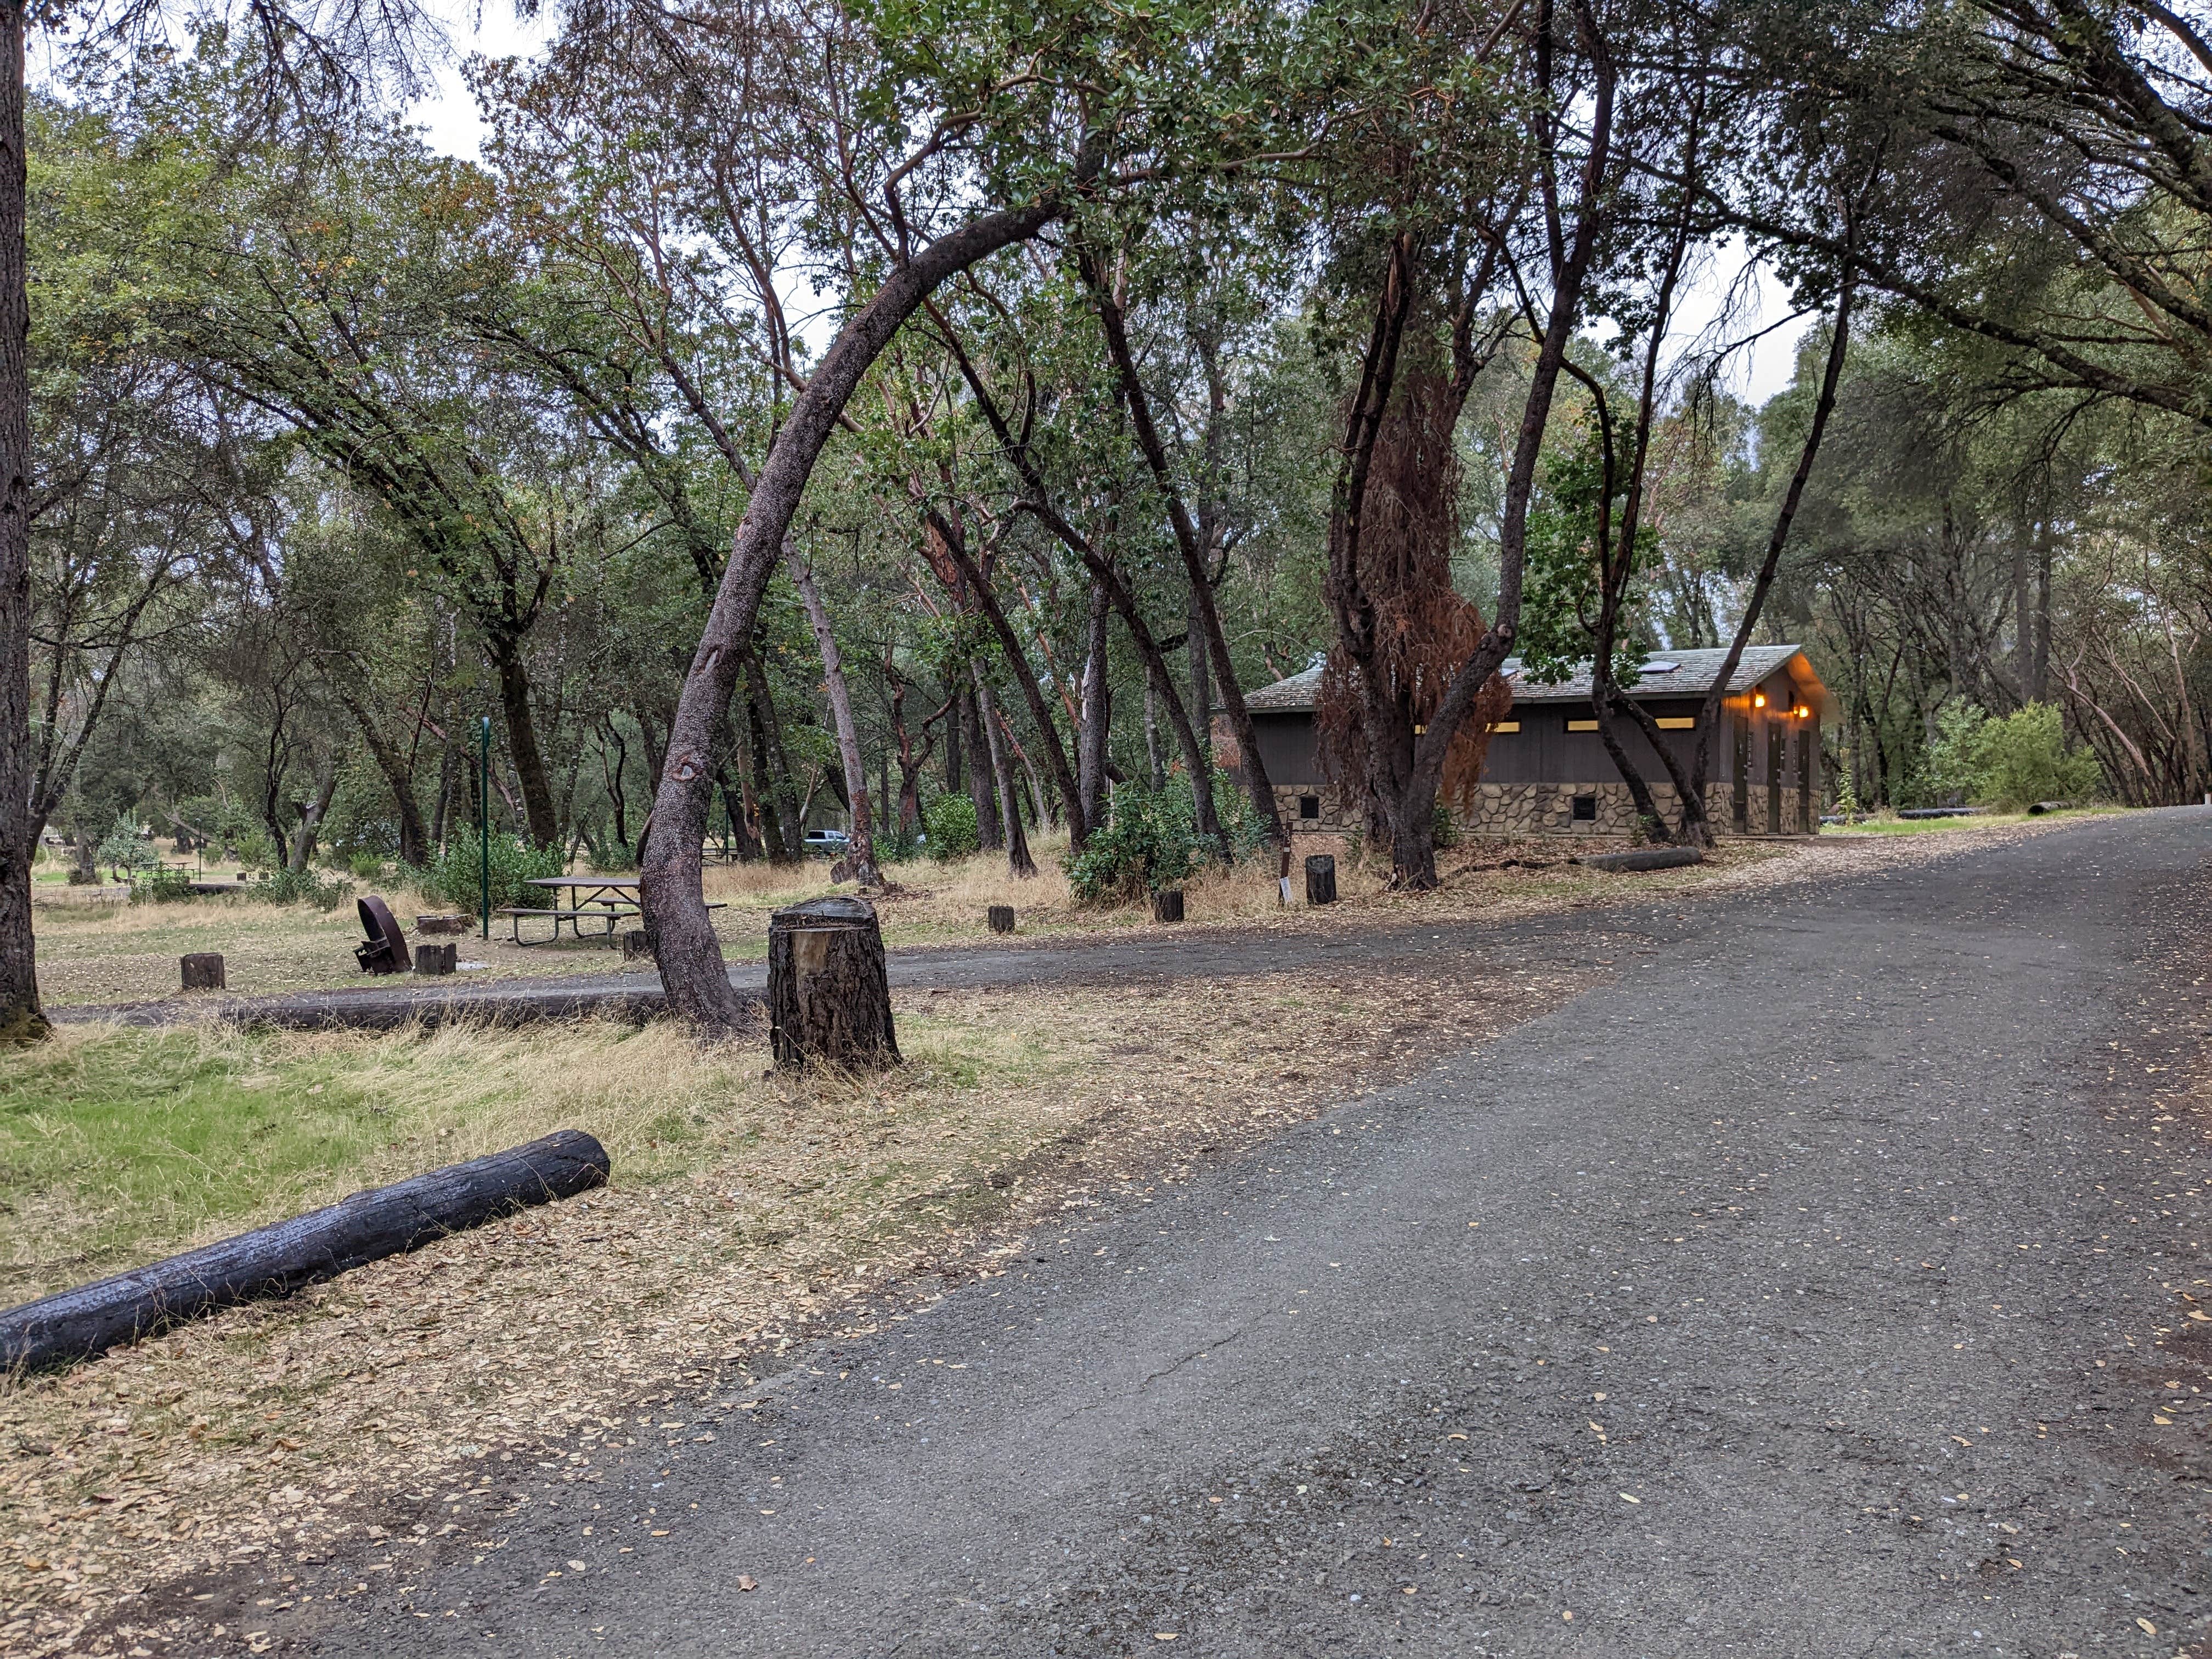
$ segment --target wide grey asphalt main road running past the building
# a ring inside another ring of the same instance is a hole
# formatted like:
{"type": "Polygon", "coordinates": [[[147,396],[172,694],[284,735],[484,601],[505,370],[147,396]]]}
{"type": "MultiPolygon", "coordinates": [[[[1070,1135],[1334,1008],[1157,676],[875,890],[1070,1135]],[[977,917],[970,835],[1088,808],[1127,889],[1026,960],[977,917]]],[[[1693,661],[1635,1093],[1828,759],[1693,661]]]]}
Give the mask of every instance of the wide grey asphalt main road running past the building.
{"type": "Polygon", "coordinates": [[[2208,1029],[2208,849],[2212,812],[2137,814],[1650,916],[1491,1048],[714,1396],[750,1411],[672,1402],[482,1564],[288,1635],[2192,1650],[2208,1170],[2159,1095],[2208,1029]]]}

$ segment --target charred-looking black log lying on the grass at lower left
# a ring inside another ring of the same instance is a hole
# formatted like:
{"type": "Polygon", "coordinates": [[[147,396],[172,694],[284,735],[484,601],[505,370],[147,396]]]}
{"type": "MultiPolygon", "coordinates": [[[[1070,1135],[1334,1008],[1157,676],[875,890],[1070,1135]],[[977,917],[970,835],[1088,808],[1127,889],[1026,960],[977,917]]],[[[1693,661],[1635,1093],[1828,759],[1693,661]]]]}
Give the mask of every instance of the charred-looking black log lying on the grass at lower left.
{"type": "Polygon", "coordinates": [[[0,1314],[0,1369],[73,1365],[217,1307],[288,1296],[462,1228],[606,1186],[608,1168],[599,1141],[566,1128],[529,1146],[369,1188],[327,1210],[11,1307],[0,1314]]]}

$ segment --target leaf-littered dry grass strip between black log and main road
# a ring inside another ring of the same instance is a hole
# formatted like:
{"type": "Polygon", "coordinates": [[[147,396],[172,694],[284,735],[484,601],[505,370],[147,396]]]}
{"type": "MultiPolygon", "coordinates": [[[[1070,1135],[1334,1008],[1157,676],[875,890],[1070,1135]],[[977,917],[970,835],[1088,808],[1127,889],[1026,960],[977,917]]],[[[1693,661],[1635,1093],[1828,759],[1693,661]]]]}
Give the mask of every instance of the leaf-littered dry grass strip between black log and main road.
{"type": "Polygon", "coordinates": [[[641,1440],[639,1402],[876,1329],[918,1270],[991,1272],[1002,1237],[1181,1179],[1571,989],[1453,971],[1048,1006],[920,993],[900,1004],[911,1064],[799,1084],[670,1026],[288,1037],[414,1102],[392,1172],[577,1126],[617,1183],[0,1394],[0,1648],[128,1648],[186,1575],[321,1557],[518,1467],[593,1480],[641,1440]]]}

